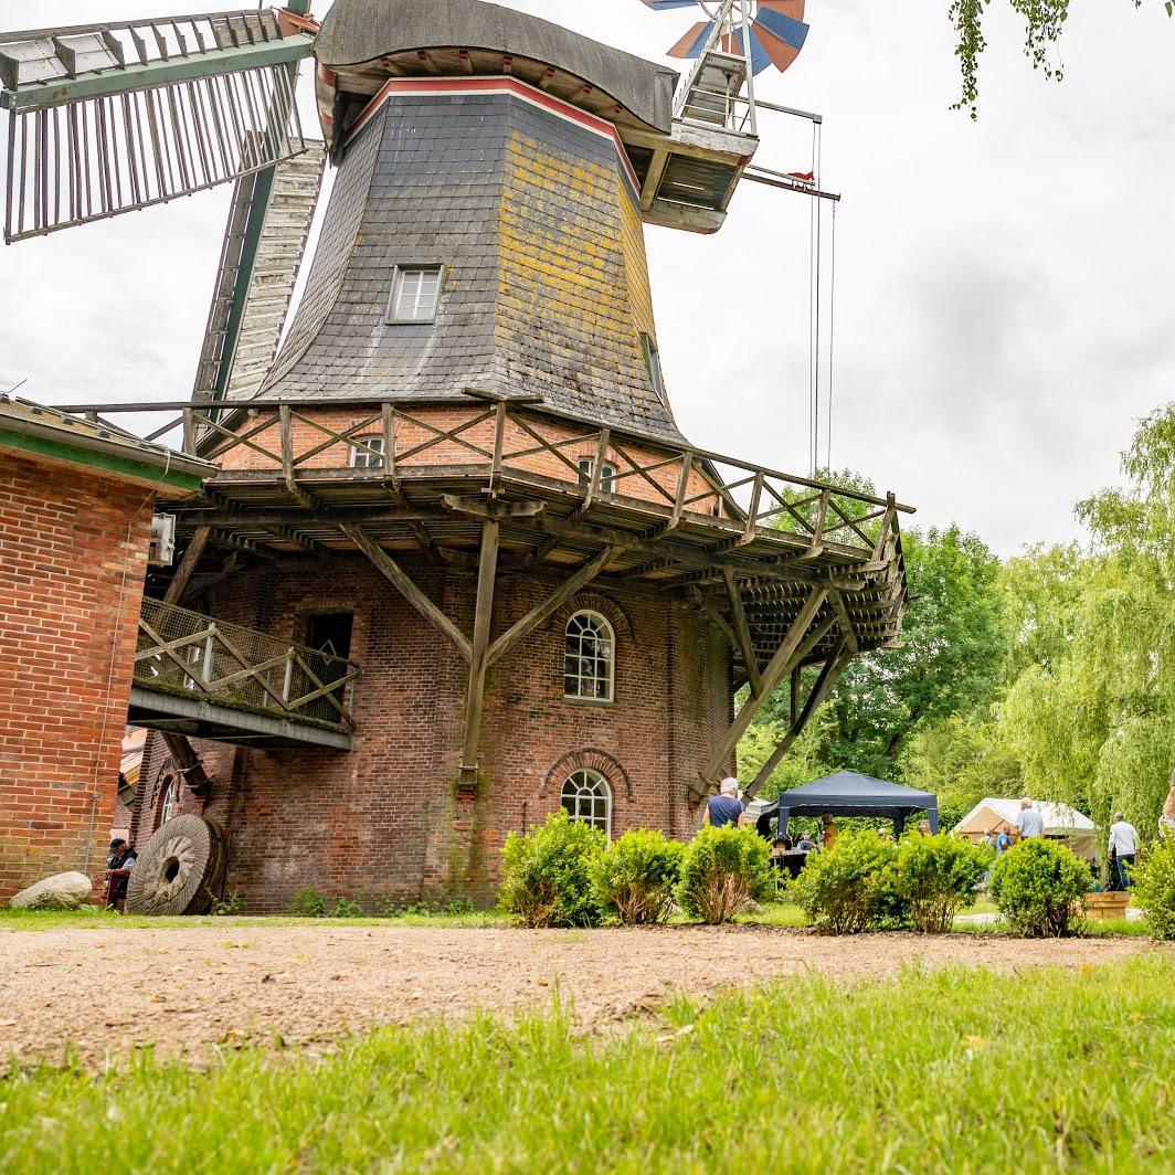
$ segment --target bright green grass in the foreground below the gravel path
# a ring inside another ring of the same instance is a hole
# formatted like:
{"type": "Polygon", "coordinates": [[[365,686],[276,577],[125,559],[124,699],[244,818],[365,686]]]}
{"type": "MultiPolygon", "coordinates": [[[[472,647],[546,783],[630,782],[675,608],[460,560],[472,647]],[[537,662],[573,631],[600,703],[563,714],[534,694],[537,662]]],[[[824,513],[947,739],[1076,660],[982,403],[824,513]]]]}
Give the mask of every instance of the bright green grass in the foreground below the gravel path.
{"type": "Polygon", "coordinates": [[[1168,954],[799,979],[612,1039],[556,1012],[27,1070],[0,1082],[0,1170],[1170,1170],[1171,1056],[1168,954]]]}

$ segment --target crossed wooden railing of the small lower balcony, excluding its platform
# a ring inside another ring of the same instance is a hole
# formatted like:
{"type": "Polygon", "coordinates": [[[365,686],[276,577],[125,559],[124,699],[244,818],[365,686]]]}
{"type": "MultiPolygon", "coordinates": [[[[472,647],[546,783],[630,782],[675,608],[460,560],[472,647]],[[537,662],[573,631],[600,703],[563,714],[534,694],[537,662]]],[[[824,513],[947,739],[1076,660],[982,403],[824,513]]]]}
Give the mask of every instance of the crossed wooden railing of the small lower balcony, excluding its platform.
{"type": "Polygon", "coordinates": [[[352,662],[145,599],[134,684],[249,713],[350,732],[352,662]]]}

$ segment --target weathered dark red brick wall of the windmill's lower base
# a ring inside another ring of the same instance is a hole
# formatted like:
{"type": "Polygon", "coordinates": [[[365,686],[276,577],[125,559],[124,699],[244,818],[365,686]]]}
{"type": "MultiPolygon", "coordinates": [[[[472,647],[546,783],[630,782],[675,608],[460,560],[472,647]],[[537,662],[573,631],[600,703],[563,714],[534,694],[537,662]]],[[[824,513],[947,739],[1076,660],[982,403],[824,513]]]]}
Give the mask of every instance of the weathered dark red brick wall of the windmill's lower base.
{"type": "MultiPolygon", "coordinates": [[[[471,572],[412,566],[428,595],[469,631],[471,572]]],[[[539,602],[553,580],[499,575],[495,633],[539,602]]],[[[687,835],[700,813],[686,787],[730,718],[728,649],[703,618],[654,593],[591,588],[491,671],[477,794],[458,799],[465,669],[456,652],[361,559],[329,571],[242,572],[208,602],[224,620],[301,638],[314,612],[354,610],[351,657],[363,666],[349,753],[197,744],[215,774],[207,806],[230,838],[227,888],[255,912],[281,911],[303,886],[394,901],[465,894],[489,902],[506,833],[559,806],[571,770],[599,766],[612,790],[613,834],[662,828],[687,835]],[[563,697],[566,618],[604,612],[617,634],[615,701],[563,697]]],[[[145,842],[168,776],[153,739],[140,785],[145,842]]]]}

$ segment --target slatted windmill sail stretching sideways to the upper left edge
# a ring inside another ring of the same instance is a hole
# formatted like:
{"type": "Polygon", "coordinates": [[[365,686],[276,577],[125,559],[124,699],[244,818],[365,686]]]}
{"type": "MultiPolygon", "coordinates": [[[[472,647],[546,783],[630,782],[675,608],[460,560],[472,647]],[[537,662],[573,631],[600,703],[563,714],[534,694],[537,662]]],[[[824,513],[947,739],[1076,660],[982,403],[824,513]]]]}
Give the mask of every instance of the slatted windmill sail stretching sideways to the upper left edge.
{"type": "Polygon", "coordinates": [[[314,38],[271,12],[0,34],[5,240],[164,203],[306,149],[294,70],[314,38]]]}

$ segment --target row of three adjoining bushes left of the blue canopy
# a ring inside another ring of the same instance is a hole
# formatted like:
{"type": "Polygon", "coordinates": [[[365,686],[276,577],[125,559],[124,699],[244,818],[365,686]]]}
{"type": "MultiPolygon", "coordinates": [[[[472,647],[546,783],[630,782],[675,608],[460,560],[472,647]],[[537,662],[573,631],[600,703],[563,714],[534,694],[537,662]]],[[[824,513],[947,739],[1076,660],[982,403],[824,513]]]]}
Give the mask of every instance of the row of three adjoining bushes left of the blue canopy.
{"type": "Polygon", "coordinates": [[[665,922],[679,906],[728,922],[771,888],[766,842],[750,830],[703,828],[689,844],[626,832],[611,845],[598,828],[555,812],[502,850],[499,902],[526,926],[665,922]]]}

